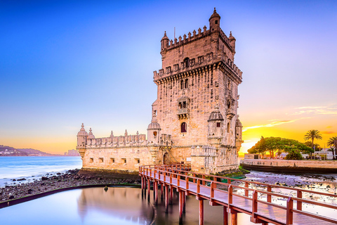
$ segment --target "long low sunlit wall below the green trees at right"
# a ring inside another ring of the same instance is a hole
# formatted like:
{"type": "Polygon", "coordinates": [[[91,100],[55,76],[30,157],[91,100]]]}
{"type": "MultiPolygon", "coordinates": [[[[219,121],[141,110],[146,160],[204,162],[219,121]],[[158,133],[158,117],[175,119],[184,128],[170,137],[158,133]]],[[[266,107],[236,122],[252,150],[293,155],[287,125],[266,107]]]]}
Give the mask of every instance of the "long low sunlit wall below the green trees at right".
{"type": "Polygon", "coordinates": [[[244,169],[267,172],[337,173],[337,162],[327,160],[241,160],[244,169]]]}

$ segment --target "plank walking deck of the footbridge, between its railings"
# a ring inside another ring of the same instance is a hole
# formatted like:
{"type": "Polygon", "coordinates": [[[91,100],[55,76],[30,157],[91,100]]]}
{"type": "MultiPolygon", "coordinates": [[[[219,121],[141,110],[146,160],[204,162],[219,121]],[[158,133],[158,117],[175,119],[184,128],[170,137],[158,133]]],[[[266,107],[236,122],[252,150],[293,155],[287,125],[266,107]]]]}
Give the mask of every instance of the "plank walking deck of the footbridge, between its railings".
{"type": "MultiPolygon", "coordinates": [[[[287,214],[286,214],[285,208],[279,208],[273,205],[258,203],[257,212],[252,213],[252,209],[253,209],[253,199],[252,198],[247,199],[247,198],[244,198],[244,196],[241,198],[239,196],[232,195],[232,204],[228,205],[228,200],[229,200],[228,191],[223,191],[218,188],[213,188],[214,194],[213,194],[213,198],[211,198],[211,187],[209,186],[200,184],[199,192],[198,192],[197,184],[192,181],[188,182],[188,188],[186,188],[185,179],[178,180],[177,177],[172,177],[171,172],[164,172],[166,175],[162,174],[162,172],[159,172],[159,173],[157,172],[154,173],[154,171],[151,171],[151,170],[150,170],[150,173],[145,172],[145,171],[140,172],[140,174],[142,174],[143,176],[147,178],[152,179],[153,181],[159,181],[162,184],[171,186],[171,188],[178,188],[182,191],[187,192],[190,195],[197,195],[199,196],[199,198],[210,200],[212,203],[214,202],[219,205],[224,205],[225,207],[229,207],[231,210],[250,214],[257,219],[270,222],[271,224],[286,224],[287,214]],[[167,174],[171,174],[171,177],[168,176],[167,174]],[[178,182],[179,182],[179,185],[178,185],[178,182]]],[[[180,176],[180,175],[176,174],[175,176],[180,176]]],[[[208,181],[208,183],[210,182],[211,181],[208,181]]],[[[317,219],[315,217],[310,217],[308,215],[293,212],[293,224],[324,225],[324,224],[336,224],[336,223],[324,221],[322,219],[317,219]]]]}

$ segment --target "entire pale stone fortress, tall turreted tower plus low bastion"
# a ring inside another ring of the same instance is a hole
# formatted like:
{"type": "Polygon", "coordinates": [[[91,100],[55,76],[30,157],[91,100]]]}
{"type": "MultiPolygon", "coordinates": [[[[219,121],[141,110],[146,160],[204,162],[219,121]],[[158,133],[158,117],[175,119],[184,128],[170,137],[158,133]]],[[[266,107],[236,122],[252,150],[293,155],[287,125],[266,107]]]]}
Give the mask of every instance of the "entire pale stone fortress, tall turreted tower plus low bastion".
{"type": "Polygon", "coordinates": [[[242,72],[234,62],[235,38],[220,29],[214,9],[188,37],[161,39],[162,68],[154,71],[157,100],[145,134],[95,139],[83,124],[77,149],[84,168],[138,170],[140,165],[190,162],[196,172],[237,168],[242,124],[237,115],[242,72]]]}

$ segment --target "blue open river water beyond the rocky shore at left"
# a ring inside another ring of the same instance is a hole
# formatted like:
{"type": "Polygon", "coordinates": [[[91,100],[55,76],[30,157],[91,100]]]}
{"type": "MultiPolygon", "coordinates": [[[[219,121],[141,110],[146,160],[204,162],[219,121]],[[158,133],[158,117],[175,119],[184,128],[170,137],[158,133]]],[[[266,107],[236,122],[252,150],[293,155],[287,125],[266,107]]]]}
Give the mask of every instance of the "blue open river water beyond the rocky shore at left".
{"type": "Polygon", "coordinates": [[[0,186],[13,184],[13,179],[23,183],[39,179],[46,173],[55,174],[69,169],[81,169],[81,157],[39,157],[39,156],[6,156],[0,157],[0,186]]]}

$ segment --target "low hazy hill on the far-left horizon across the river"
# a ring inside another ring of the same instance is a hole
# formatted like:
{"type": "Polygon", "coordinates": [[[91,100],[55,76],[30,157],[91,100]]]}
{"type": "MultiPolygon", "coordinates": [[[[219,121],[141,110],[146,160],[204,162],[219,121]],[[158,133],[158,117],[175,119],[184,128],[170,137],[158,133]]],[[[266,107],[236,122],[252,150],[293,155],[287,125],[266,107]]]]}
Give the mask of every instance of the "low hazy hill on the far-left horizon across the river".
{"type": "Polygon", "coordinates": [[[44,153],[41,150],[32,148],[13,148],[0,145],[0,156],[62,156],[51,153],[44,153]]]}

